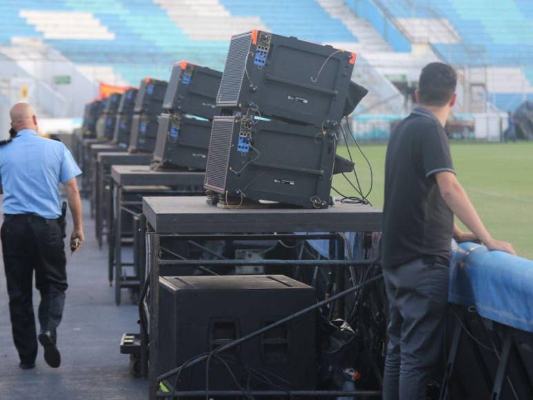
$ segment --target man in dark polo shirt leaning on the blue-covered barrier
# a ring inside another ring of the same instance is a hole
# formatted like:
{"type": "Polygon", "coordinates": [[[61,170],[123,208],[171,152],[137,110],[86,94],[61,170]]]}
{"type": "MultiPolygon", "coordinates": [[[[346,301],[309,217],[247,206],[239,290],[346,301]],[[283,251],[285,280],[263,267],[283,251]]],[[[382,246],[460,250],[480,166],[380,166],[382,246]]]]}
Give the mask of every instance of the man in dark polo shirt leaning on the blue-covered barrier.
{"type": "Polygon", "coordinates": [[[390,135],[382,254],[390,301],[385,400],[426,399],[430,370],[442,359],[452,236],[514,254],[509,243],[490,236],[456,179],[443,128],[456,81],[446,64],[425,66],[419,106],[390,135]],[[454,214],[472,233],[454,225],[454,214]]]}

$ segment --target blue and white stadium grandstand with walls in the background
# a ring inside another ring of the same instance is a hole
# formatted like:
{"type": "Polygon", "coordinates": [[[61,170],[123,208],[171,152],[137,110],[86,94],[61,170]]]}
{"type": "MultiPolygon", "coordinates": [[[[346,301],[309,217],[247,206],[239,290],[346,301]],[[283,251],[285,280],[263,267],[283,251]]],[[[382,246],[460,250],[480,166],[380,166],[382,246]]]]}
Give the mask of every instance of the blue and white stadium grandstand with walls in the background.
{"type": "Polygon", "coordinates": [[[405,88],[435,60],[459,70],[457,112],[533,99],[528,0],[0,0],[0,13],[3,114],[23,98],[80,117],[99,82],[168,79],[180,59],[221,70],[230,36],[253,28],[356,51],[354,79],[370,89],[359,113],[403,114],[405,88]]]}

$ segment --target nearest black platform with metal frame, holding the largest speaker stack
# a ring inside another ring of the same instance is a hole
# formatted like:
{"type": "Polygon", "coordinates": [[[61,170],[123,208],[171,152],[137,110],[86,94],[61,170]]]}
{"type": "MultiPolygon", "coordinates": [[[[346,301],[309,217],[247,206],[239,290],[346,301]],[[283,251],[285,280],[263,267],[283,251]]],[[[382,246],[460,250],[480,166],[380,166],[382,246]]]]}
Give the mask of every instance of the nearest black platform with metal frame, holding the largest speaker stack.
{"type": "MultiPolygon", "coordinates": [[[[304,208],[286,208],[281,205],[270,204],[264,208],[221,208],[206,203],[206,197],[143,197],[143,214],[148,222],[146,235],[146,254],[148,254],[143,277],[143,286],[150,287],[150,298],[143,301],[145,321],[149,321],[147,335],[143,330],[140,334],[141,370],[148,370],[150,379],[150,400],[164,397],[166,394],[159,390],[159,278],[182,274],[184,268],[198,266],[231,267],[243,263],[250,265],[252,260],[239,260],[226,257],[207,259],[183,259],[178,257],[164,258],[167,253],[172,254],[172,246],[178,246],[180,241],[194,243],[196,241],[253,241],[270,240],[282,241],[328,239],[334,254],[328,260],[312,260],[312,266],[329,264],[334,268],[332,279],[336,290],[344,288],[343,277],[348,263],[344,258],[344,248],[347,244],[336,232],[378,232],[381,228],[381,211],[361,204],[338,203],[336,206],[308,210],[304,208]],[[294,233],[297,232],[297,233],[294,233]],[[164,242],[163,242],[164,241],[164,242]],[[144,280],[145,278],[145,280],[144,280]],[[149,343],[149,344],[148,344],[149,343]],[[148,348],[150,352],[148,354],[148,348]],[[149,362],[147,359],[149,358],[149,362]]],[[[284,245],[286,246],[286,245],[284,245]]],[[[256,260],[257,261],[257,260],[256,260]]],[[[299,268],[305,263],[302,259],[261,260],[262,265],[280,265],[286,273],[291,268],[299,268]]],[[[361,274],[361,269],[370,264],[369,260],[350,261],[354,274],[361,274]]],[[[335,303],[336,315],[345,314],[344,299],[337,299],[335,303]]],[[[148,328],[148,326],[147,326],[148,328]]],[[[164,379],[164,378],[163,378],[164,379]]],[[[166,384],[166,383],[165,383],[166,384]]],[[[172,388],[171,388],[172,390],[172,388]]],[[[187,396],[188,394],[183,394],[187,396]]],[[[326,394],[334,396],[335,394],[326,394]]],[[[359,395],[359,394],[357,394],[359,395]]],[[[380,392],[373,392],[373,397],[379,397],[380,392]]],[[[170,398],[170,396],[168,397],[170,398]]],[[[303,398],[303,397],[302,397],[303,398]]]]}

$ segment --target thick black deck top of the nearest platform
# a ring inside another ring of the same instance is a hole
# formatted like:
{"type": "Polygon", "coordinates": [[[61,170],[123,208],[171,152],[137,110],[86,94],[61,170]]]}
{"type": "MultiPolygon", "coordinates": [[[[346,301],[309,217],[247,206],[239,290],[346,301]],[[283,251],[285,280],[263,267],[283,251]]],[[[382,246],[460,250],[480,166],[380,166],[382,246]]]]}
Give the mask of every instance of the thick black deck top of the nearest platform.
{"type": "Polygon", "coordinates": [[[337,203],[323,210],[303,208],[228,210],[208,205],[205,203],[205,197],[144,197],[143,214],[153,230],[160,234],[379,232],[381,230],[381,211],[362,204],[337,203]]]}

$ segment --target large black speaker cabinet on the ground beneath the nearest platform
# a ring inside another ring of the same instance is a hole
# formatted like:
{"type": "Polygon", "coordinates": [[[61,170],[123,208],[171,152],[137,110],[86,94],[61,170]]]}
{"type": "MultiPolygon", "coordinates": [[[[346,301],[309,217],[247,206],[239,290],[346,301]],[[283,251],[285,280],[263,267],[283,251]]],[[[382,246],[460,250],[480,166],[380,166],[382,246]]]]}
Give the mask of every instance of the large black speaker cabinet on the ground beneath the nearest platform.
{"type": "MultiPolygon", "coordinates": [[[[160,277],[159,288],[158,374],[315,302],[312,287],[283,275],[160,277]]],[[[272,381],[280,382],[272,377],[275,374],[299,390],[312,390],[316,385],[314,331],[314,314],[304,314],[223,357],[244,387],[247,367],[261,370],[272,381]]],[[[257,381],[252,378],[251,383],[257,381]]],[[[174,379],[165,385],[173,388],[174,379]]],[[[209,387],[237,390],[230,372],[216,358],[210,363],[209,387]]],[[[205,389],[205,366],[185,370],[178,389],[205,389]]]]}

